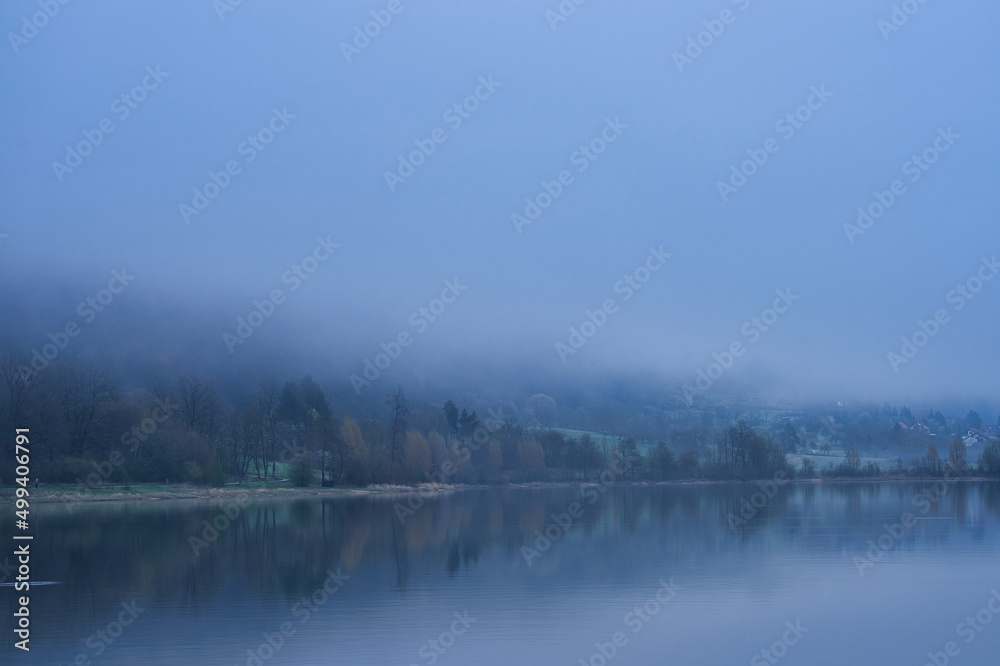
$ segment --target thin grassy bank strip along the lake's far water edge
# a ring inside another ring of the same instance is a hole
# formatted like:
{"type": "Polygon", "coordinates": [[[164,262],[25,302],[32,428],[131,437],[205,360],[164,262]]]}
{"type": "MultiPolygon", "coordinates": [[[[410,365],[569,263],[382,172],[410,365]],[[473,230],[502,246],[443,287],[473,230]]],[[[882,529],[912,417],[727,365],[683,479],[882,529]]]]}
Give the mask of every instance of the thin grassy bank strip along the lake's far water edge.
{"type": "MultiPolygon", "coordinates": [[[[996,477],[889,477],[889,478],[831,478],[831,479],[788,479],[789,484],[883,484],[883,483],[934,483],[942,481],[949,485],[960,482],[1000,481],[996,477]]],[[[771,479],[680,479],[669,481],[615,481],[607,484],[620,487],[656,487],[656,486],[707,486],[707,485],[756,485],[772,482],[771,479]]],[[[340,486],[324,488],[310,486],[296,488],[281,485],[232,484],[220,488],[190,486],[178,484],[164,486],[162,484],[134,484],[125,490],[124,486],[107,486],[97,490],[81,492],[73,486],[49,486],[48,488],[31,488],[32,504],[88,504],[94,502],[169,502],[174,500],[226,500],[248,495],[251,499],[307,499],[327,497],[366,497],[379,495],[407,496],[445,494],[467,490],[546,490],[551,488],[583,488],[604,485],[600,481],[533,481],[506,484],[439,484],[428,483],[416,486],[408,485],[374,485],[364,488],[357,486],[340,486]]],[[[13,504],[15,488],[0,489],[0,504],[13,504]]]]}

